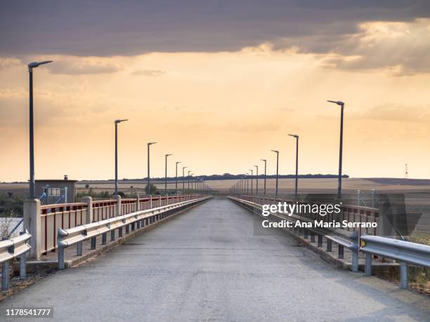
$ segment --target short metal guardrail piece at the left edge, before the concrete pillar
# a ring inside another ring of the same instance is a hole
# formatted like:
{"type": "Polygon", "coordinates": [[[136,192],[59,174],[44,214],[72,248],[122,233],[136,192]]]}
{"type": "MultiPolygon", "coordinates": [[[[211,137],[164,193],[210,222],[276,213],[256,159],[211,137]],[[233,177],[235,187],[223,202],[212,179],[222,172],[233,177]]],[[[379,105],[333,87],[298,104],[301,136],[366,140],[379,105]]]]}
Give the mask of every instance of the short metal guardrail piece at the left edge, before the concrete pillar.
{"type": "Polygon", "coordinates": [[[27,277],[25,256],[31,248],[28,244],[31,237],[32,235],[25,231],[13,239],[0,241],[1,290],[9,288],[9,262],[14,258],[20,257],[20,279],[27,277]]]}

